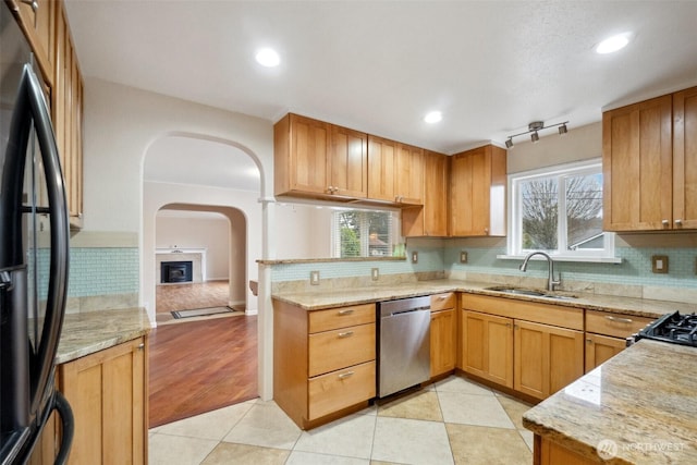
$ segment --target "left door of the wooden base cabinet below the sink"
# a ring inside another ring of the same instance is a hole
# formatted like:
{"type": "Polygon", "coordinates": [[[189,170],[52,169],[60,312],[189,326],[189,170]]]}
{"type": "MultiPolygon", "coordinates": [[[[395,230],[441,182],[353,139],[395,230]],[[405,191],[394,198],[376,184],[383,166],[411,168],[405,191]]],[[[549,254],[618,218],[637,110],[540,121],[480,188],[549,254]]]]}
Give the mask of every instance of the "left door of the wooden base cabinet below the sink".
{"type": "Polygon", "coordinates": [[[513,388],[513,320],[463,310],[463,370],[513,388]]]}

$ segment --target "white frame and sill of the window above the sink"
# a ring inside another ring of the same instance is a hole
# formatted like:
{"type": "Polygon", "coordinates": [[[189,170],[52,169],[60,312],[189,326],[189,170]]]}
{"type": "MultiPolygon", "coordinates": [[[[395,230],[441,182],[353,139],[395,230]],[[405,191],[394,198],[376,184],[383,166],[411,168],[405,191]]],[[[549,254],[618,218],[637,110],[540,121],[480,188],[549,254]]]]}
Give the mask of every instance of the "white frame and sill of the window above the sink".
{"type": "MultiPolygon", "coordinates": [[[[600,158],[592,158],[583,161],[576,161],[571,163],[558,164],[552,167],[539,168],[529,171],[522,171],[517,173],[511,173],[508,176],[508,240],[506,240],[506,255],[499,256],[498,258],[511,258],[521,259],[528,255],[533,249],[524,249],[522,240],[522,196],[519,194],[519,185],[523,182],[533,181],[536,179],[557,178],[558,192],[559,192],[559,211],[566,211],[566,183],[565,180],[574,175],[587,175],[587,174],[601,174],[602,175],[602,160],[600,158]],[[563,194],[562,194],[563,193],[563,194]]],[[[602,182],[600,183],[602,187],[602,182]]],[[[621,261],[615,257],[613,232],[603,231],[604,233],[604,246],[603,248],[594,249],[576,249],[568,250],[566,244],[566,215],[559,215],[558,223],[558,248],[557,250],[545,250],[555,260],[561,261],[601,261],[601,262],[619,262],[621,261]],[[561,230],[560,230],[561,229],[561,230]],[[563,248],[562,248],[563,247],[563,248]]]]}

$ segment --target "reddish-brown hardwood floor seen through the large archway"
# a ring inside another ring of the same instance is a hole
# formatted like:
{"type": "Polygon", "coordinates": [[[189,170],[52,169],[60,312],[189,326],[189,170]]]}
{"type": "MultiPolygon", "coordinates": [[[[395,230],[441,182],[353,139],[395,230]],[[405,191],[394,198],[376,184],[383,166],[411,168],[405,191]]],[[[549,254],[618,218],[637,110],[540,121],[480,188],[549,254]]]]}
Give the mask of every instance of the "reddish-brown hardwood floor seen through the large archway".
{"type": "Polygon", "coordinates": [[[150,428],[256,397],[257,365],[256,316],[157,327],[150,332],[150,428]]]}

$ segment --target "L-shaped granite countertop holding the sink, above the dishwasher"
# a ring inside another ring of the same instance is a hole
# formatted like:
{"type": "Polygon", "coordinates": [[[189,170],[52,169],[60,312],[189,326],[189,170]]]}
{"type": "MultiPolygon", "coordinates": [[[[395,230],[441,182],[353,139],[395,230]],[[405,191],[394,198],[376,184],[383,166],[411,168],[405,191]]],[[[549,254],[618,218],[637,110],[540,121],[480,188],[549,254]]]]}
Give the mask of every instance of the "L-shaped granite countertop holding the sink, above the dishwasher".
{"type": "Polygon", "coordinates": [[[504,298],[515,298],[534,301],[546,304],[563,305],[568,307],[585,308],[589,310],[615,311],[624,315],[635,315],[649,318],[658,318],[661,315],[678,310],[693,313],[696,310],[694,304],[678,302],[652,301],[647,298],[622,297],[613,295],[589,294],[589,293],[567,293],[559,292],[560,295],[573,294],[576,298],[548,298],[533,297],[519,294],[505,294],[491,291],[488,287],[496,286],[492,283],[467,282],[460,280],[430,280],[408,282],[396,285],[376,285],[360,289],[338,289],[331,291],[315,292],[283,292],[273,294],[273,298],[294,304],[306,310],[318,310],[322,308],[341,307],[345,305],[366,304],[393,298],[413,297],[418,295],[438,294],[441,292],[466,292],[472,294],[490,295],[504,298]]]}

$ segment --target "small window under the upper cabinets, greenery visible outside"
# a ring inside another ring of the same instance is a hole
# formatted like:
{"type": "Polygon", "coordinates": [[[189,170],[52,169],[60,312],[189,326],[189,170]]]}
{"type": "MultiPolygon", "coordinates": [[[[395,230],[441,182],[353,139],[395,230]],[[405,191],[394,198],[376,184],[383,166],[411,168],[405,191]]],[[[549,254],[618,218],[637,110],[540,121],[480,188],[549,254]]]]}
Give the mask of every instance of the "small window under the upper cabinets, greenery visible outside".
{"type": "Polygon", "coordinates": [[[332,213],[333,257],[391,257],[401,242],[398,211],[338,209],[332,213]]]}

